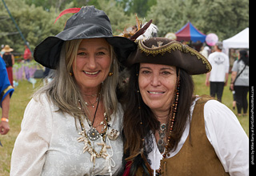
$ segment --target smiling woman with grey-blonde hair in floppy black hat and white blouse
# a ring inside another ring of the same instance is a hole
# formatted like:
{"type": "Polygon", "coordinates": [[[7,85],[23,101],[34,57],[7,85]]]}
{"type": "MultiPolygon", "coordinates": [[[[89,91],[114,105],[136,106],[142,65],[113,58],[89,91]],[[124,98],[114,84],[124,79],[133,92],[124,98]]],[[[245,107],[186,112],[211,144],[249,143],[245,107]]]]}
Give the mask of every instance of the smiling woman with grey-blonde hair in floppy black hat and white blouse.
{"type": "Polygon", "coordinates": [[[136,46],[113,36],[102,10],[69,11],[64,30],[34,50],[54,78],[26,107],[10,175],[116,175],[122,165],[118,62],[136,46]]]}

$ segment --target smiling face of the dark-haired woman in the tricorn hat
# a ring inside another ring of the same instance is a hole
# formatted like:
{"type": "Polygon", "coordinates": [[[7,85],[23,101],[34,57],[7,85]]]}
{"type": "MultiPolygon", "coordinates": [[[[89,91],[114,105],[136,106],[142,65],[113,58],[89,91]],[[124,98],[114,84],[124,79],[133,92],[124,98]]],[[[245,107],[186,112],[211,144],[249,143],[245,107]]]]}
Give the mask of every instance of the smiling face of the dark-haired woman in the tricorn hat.
{"type": "Polygon", "coordinates": [[[177,74],[175,66],[141,63],[138,86],[143,102],[155,113],[170,110],[177,74]]]}

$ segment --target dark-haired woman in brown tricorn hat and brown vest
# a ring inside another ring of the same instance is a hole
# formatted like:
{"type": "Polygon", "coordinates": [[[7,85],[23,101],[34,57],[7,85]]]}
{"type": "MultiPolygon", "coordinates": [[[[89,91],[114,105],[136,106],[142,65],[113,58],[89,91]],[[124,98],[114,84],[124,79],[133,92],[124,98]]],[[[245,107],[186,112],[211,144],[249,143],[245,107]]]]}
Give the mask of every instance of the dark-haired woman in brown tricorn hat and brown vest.
{"type": "Polygon", "coordinates": [[[130,54],[123,175],[248,175],[248,137],[222,103],[194,96],[190,75],[206,58],[168,38],[138,42],[130,54]]]}

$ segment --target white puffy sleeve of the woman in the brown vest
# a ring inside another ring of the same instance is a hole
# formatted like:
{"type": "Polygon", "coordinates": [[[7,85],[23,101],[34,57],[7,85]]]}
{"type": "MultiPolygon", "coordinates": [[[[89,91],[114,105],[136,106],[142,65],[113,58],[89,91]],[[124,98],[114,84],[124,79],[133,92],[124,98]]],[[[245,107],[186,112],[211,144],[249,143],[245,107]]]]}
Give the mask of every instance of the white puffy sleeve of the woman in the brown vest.
{"type": "Polygon", "coordinates": [[[238,118],[216,100],[206,102],[204,107],[206,135],[231,176],[249,175],[249,138],[238,118]]]}

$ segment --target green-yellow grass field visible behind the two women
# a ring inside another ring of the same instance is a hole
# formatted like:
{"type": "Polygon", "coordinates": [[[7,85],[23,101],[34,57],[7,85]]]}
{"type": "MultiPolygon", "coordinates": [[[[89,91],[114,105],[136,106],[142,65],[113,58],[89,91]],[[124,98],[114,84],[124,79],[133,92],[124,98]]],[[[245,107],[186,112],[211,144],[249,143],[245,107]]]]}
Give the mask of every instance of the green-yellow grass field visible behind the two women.
{"type": "MultiPolygon", "coordinates": [[[[194,76],[195,82],[195,94],[209,94],[209,87],[206,87],[205,75],[194,76]]],[[[13,150],[15,139],[20,131],[20,125],[22,122],[22,116],[26,108],[27,103],[30,101],[31,95],[34,93],[32,84],[27,81],[18,82],[19,85],[15,88],[14,94],[10,101],[10,131],[6,135],[1,135],[0,140],[3,147],[0,146],[0,176],[7,176],[10,174],[10,158],[13,150]]],[[[37,88],[42,84],[42,81],[38,79],[38,82],[35,85],[37,88]]],[[[222,103],[232,109],[232,94],[229,90],[229,87],[224,88],[222,103]]],[[[1,110],[0,110],[0,113],[1,110]]],[[[236,110],[234,114],[237,114],[236,110]]],[[[246,131],[246,134],[249,135],[249,116],[239,117],[239,122],[241,123],[243,129],[246,131]]]]}

